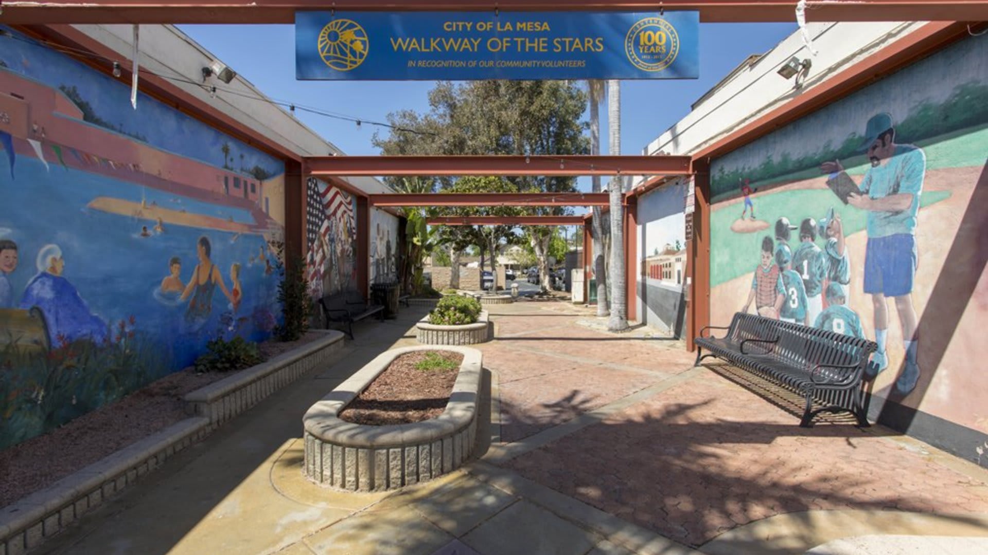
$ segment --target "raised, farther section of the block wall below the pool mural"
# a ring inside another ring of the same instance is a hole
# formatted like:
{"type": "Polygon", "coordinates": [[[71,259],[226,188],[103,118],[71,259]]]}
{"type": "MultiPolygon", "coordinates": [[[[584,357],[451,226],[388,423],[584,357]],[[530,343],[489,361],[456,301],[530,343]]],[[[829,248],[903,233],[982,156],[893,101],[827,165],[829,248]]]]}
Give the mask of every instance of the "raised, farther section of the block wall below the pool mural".
{"type": "Polygon", "coordinates": [[[325,337],[187,394],[186,413],[206,417],[209,424],[218,426],[253,407],[343,349],[343,332],[312,331],[325,337]]]}

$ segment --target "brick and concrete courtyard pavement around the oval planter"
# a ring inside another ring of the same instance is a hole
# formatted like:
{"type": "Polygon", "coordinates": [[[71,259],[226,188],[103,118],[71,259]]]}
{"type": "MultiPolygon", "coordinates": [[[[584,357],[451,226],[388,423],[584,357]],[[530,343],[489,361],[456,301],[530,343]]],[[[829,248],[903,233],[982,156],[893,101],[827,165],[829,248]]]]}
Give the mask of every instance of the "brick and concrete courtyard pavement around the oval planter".
{"type": "Polygon", "coordinates": [[[477,453],[344,493],[301,473],[301,417],[425,308],[178,454],[42,552],[446,555],[985,553],[988,471],[880,426],[798,427],[798,400],[560,300],[488,307],[477,453]],[[489,418],[487,416],[489,415],[489,418]],[[919,551],[917,551],[919,549],[919,551]]]}

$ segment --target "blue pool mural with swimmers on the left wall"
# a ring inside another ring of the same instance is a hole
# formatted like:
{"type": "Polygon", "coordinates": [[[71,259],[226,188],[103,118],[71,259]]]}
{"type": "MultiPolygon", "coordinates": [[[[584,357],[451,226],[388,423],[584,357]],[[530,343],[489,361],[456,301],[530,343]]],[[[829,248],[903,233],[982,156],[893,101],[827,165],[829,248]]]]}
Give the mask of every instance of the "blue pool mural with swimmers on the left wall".
{"type": "Polygon", "coordinates": [[[0,37],[0,448],[277,325],[284,163],[0,37]]]}

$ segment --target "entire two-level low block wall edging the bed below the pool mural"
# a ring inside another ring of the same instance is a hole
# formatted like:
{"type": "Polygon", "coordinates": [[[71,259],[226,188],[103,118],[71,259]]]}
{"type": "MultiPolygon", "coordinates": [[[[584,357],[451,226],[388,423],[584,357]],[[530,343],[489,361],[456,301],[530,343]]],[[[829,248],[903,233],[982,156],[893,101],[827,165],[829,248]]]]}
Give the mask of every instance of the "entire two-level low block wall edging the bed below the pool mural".
{"type": "Polygon", "coordinates": [[[51,486],[0,509],[0,555],[36,549],[48,537],[104,500],[143,479],[166,459],[206,438],[343,347],[343,333],[313,330],[325,338],[251,366],[185,397],[192,418],[144,437],[51,486]]]}

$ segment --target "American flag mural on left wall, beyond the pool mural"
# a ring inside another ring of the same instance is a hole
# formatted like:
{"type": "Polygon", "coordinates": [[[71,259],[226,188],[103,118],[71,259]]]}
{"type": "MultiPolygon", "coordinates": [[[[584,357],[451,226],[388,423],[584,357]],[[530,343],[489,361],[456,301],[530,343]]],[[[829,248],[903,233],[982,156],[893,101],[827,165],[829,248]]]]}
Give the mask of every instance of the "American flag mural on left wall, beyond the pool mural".
{"type": "Polygon", "coordinates": [[[308,281],[314,296],[334,293],[356,279],[354,198],[315,178],[306,183],[308,281]]]}

